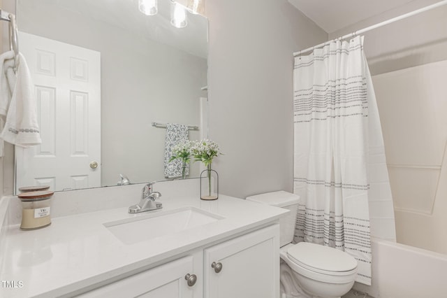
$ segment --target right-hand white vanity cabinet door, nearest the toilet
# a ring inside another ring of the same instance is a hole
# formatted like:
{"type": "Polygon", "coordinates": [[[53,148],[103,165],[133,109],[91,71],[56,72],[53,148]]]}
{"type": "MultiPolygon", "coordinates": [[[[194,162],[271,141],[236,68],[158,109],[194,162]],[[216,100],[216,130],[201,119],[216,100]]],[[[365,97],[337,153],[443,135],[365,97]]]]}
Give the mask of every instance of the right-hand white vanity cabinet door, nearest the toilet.
{"type": "Polygon", "coordinates": [[[204,253],[205,298],[279,297],[279,225],[207,248],[204,253]]]}

